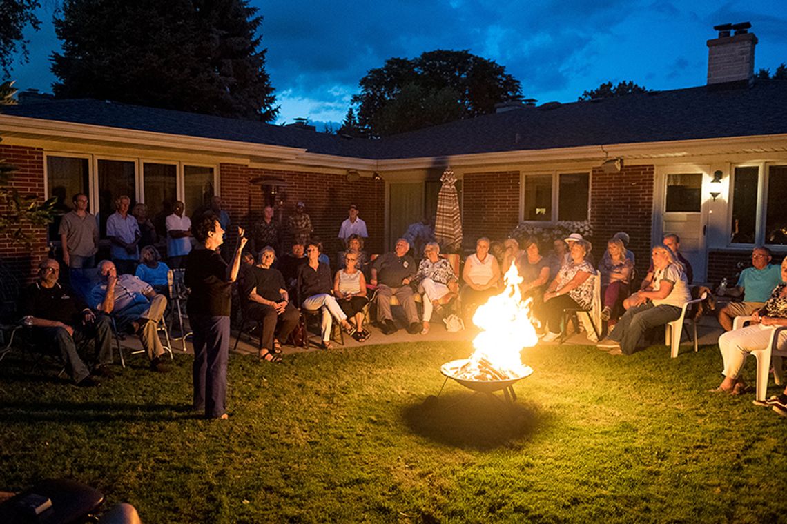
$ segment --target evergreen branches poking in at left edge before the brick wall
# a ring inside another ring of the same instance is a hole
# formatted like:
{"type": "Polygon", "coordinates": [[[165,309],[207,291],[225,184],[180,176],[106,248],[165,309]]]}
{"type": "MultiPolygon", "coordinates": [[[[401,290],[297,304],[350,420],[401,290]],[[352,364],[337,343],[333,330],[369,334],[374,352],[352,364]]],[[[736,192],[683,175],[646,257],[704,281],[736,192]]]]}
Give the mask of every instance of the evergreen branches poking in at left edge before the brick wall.
{"type": "MultiPolygon", "coordinates": [[[[0,84],[0,108],[17,101],[13,95],[17,90],[13,82],[0,84]]],[[[56,198],[39,203],[35,195],[20,195],[13,188],[12,177],[17,170],[5,159],[0,159],[0,235],[10,236],[12,242],[30,245],[33,237],[25,230],[26,225],[46,225],[52,221],[52,210],[56,198]]]]}

